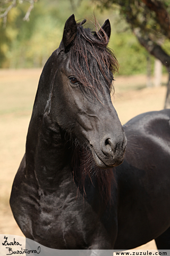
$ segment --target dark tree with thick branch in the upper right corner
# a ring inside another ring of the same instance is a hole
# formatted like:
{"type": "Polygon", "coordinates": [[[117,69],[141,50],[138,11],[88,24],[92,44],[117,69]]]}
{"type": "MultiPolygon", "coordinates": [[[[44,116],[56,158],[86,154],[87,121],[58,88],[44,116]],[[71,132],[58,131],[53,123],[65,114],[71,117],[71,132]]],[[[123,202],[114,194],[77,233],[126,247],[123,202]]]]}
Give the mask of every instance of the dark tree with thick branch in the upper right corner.
{"type": "Polygon", "coordinates": [[[169,0],[98,0],[101,8],[115,7],[139,43],[149,54],[154,55],[169,73],[165,107],[170,108],[170,51],[163,44],[170,39],[170,1],[169,0]],[[165,49],[166,48],[166,49],[165,49]]]}

